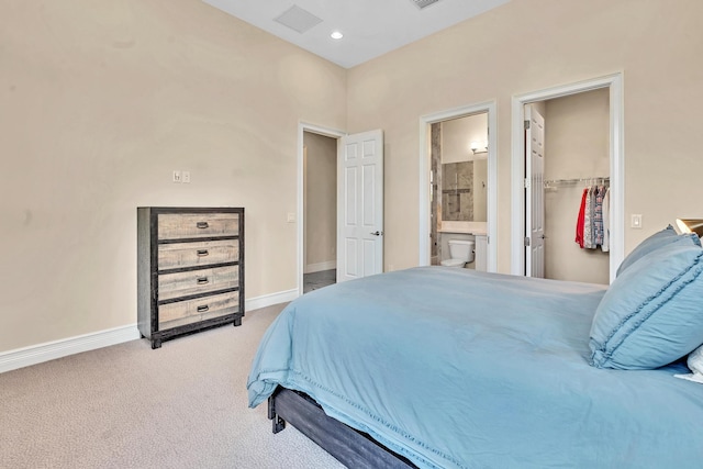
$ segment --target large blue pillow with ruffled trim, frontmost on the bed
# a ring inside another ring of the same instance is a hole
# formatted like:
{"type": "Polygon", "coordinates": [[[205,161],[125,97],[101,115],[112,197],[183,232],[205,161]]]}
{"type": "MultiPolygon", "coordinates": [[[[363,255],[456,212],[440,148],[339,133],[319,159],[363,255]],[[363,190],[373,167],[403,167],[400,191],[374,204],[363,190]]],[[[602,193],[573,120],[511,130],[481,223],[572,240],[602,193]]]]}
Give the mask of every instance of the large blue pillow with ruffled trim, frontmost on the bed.
{"type": "Polygon", "coordinates": [[[674,244],[641,257],[610,286],[591,324],[591,365],[654,369],[703,344],[703,249],[674,244]]]}

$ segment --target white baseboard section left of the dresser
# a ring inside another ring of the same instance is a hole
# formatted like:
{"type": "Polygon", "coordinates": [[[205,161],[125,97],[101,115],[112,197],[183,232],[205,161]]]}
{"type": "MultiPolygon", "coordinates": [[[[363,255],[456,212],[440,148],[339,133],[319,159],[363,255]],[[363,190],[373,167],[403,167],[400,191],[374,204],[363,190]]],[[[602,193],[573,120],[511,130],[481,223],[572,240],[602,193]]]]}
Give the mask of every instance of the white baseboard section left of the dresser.
{"type": "Polygon", "coordinates": [[[136,324],[0,353],[0,373],[141,337],[136,324]]]}

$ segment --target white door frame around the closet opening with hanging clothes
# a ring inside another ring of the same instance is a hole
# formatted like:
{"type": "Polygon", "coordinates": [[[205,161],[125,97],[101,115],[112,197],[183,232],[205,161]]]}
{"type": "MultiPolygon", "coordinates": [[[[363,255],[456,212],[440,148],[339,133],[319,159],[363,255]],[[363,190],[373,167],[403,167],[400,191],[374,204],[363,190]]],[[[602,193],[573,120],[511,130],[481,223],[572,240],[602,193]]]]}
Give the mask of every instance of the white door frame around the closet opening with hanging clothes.
{"type": "MultiPolygon", "coordinates": [[[[579,81],[571,85],[547,88],[512,98],[512,200],[511,200],[511,273],[524,276],[525,272],[525,206],[524,172],[525,104],[562,98],[601,88],[610,90],[610,169],[611,169],[611,249],[610,281],[615,280],[617,267],[624,258],[625,237],[625,120],[623,101],[623,72],[579,81]]],[[[547,118],[549,119],[549,118],[547,118]]]]}

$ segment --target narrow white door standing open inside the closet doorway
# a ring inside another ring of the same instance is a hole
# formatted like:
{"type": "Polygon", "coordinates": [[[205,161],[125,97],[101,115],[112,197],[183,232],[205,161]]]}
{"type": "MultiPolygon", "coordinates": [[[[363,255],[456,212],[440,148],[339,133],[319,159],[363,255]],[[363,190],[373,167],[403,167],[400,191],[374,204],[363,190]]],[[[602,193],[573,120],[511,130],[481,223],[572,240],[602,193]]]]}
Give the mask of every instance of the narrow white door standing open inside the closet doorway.
{"type": "Polygon", "coordinates": [[[545,118],[525,107],[525,275],[545,276],[545,118]]]}

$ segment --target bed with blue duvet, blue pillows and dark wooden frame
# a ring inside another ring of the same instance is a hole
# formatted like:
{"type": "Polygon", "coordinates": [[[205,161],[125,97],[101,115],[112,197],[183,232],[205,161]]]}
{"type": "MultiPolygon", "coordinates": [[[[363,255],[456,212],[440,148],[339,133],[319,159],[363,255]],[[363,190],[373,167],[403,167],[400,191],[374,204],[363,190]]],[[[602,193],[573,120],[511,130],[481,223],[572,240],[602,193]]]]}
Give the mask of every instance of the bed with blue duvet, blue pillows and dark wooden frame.
{"type": "Polygon", "coordinates": [[[667,228],[610,287],[417,267],[315,290],[263,337],[249,406],[348,467],[700,467],[703,384],[677,376],[702,253],[667,228]]]}

